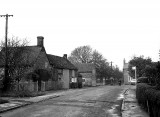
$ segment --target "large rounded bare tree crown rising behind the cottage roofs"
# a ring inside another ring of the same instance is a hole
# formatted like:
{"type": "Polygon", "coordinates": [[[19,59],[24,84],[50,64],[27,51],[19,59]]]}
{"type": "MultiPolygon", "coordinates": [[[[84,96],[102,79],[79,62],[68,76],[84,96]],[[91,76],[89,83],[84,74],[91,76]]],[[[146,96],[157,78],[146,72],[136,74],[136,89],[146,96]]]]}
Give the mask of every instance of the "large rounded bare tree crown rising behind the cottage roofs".
{"type": "Polygon", "coordinates": [[[90,46],[80,46],[75,48],[68,59],[72,63],[90,63],[92,60],[92,48],[90,46]]]}

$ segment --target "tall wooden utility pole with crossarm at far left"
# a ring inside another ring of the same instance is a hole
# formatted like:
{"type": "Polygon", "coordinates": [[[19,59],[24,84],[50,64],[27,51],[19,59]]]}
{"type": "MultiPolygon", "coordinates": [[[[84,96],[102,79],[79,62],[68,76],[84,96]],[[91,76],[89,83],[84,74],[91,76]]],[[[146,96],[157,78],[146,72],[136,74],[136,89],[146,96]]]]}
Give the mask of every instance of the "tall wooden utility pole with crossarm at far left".
{"type": "Polygon", "coordinates": [[[8,17],[13,17],[13,15],[0,15],[0,17],[6,17],[6,27],[5,27],[5,71],[4,71],[4,76],[5,76],[5,81],[8,80],[8,61],[7,61],[7,35],[8,35],[8,17]]]}

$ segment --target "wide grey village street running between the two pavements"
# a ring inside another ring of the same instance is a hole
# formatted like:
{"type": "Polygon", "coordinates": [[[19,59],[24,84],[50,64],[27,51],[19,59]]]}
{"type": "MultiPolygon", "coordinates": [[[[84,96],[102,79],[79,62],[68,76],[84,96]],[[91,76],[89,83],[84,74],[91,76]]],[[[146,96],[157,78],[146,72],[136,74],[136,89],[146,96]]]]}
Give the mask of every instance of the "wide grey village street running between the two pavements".
{"type": "Polygon", "coordinates": [[[60,97],[2,113],[2,117],[112,117],[121,116],[126,86],[99,86],[66,91],[60,97]]]}

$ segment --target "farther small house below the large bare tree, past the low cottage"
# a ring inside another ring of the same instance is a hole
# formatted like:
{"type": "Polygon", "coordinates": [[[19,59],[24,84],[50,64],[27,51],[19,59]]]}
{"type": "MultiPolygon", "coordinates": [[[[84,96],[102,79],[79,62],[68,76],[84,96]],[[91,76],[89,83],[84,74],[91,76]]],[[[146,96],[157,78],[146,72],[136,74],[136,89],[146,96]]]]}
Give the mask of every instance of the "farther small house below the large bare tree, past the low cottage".
{"type": "Polygon", "coordinates": [[[84,86],[96,86],[96,68],[92,63],[75,63],[84,86]]]}

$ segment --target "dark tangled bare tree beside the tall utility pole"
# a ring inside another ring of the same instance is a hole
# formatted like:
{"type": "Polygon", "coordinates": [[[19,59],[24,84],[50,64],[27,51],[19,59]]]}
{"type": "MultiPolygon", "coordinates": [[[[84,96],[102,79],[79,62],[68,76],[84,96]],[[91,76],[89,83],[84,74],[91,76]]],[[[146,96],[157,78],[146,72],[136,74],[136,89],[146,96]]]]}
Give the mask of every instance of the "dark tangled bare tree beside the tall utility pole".
{"type": "MultiPolygon", "coordinates": [[[[28,50],[25,47],[28,44],[26,39],[20,40],[18,37],[12,37],[8,39],[7,42],[7,77],[3,80],[3,91],[6,91],[10,88],[11,84],[20,81],[26,71],[27,67],[24,65],[26,61],[26,56],[23,54],[28,50]]],[[[1,42],[1,56],[0,60],[2,66],[4,67],[5,62],[5,47],[4,42],[1,42]]]]}

